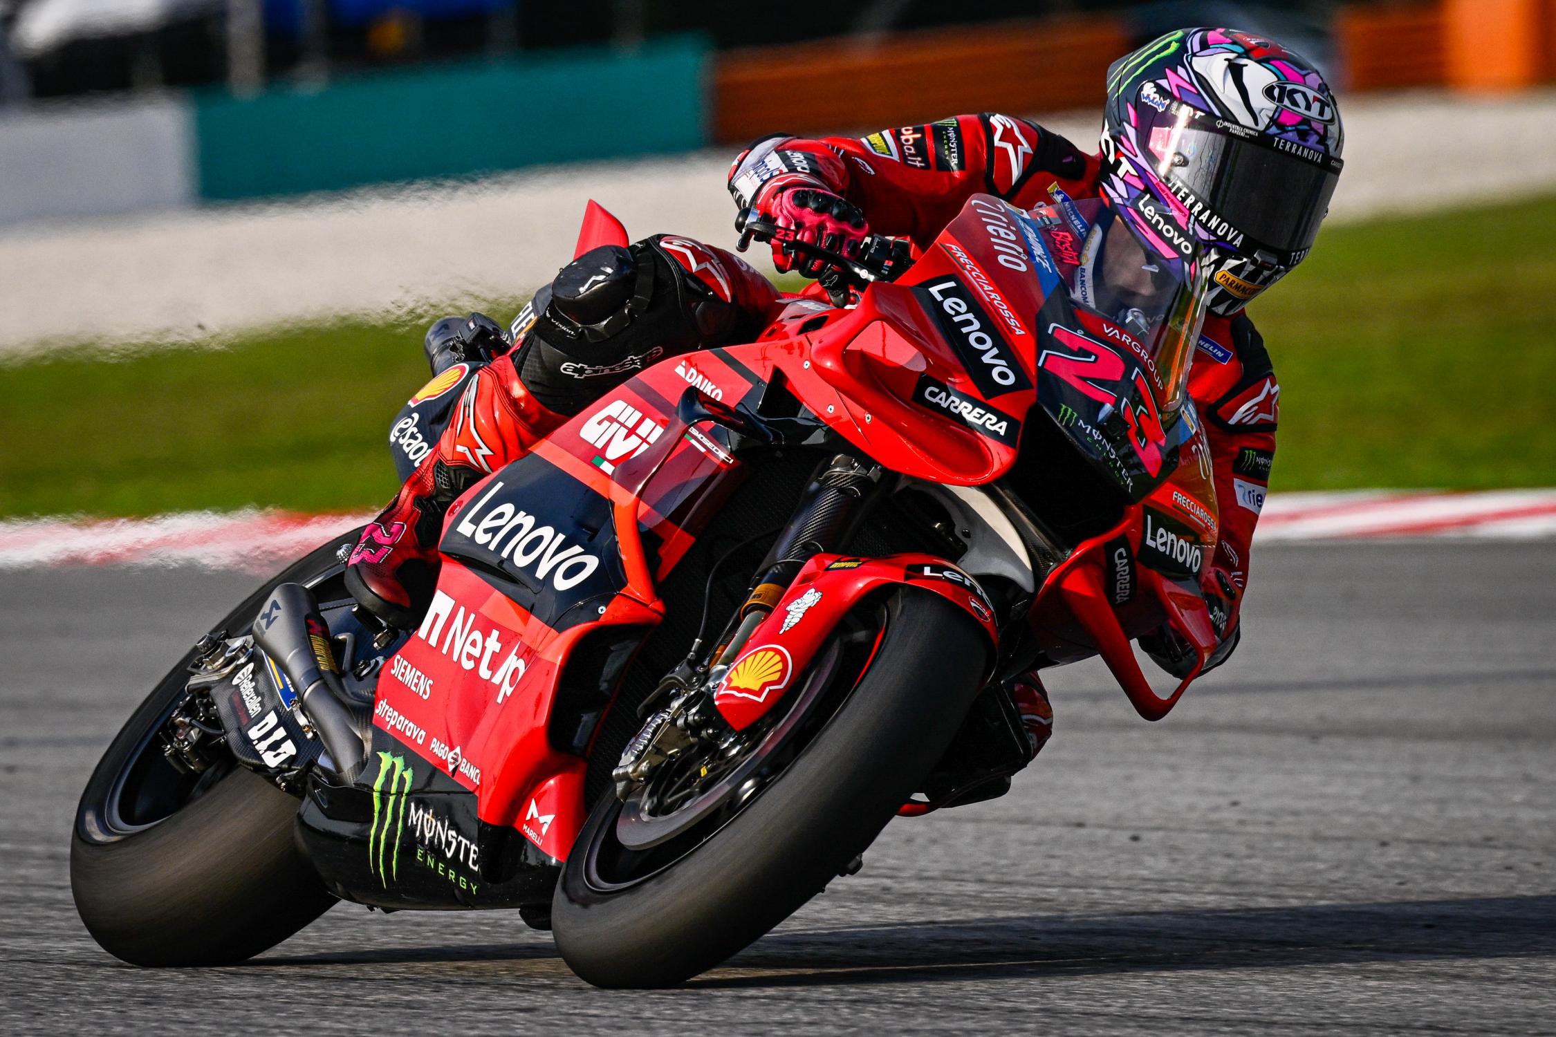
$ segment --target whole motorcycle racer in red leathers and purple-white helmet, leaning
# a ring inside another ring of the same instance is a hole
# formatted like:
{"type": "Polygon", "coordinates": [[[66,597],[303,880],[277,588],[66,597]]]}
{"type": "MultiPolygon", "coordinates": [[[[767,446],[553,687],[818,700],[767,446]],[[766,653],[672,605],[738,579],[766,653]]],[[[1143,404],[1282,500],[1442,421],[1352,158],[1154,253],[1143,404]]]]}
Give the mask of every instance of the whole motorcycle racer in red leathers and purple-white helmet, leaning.
{"type": "MultiPolygon", "coordinates": [[[[1192,225],[1214,275],[1189,393],[1206,420],[1223,502],[1203,580],[1221,634],[1215,665],[1240,636],[1248,544],[1279,417],[1279,384],[1242,309],[1312,246],[1340,169],[1338,112],[1309,62],[1229,30],[1170,33],[1114,62],[1108,89],[1100,155],[1022,118],[962,115],[859,140],[769,137],[736,159],[730,191],[738,205],[801,241],[845,253],[871,230],[923,249],[976,193],[1024,208],[1103,197],[1123,211],[1156,199],[1192,225]]],[[[780,243],[773,258],[781,271],[814,277],[825,269],[780,243]]],[[[400,493],[367,525],[347,588],[384,622],[414,625],[436,581],[443,515],[465,488],[636,370],[750,337],[781,305],[738,257],[660,235],[580,255],[510,333],[481,314],[437,322],[428,334],[434,370],[457,359],[484,365],[400,493]]],[[[1169,672],[1192,665],[1193,653],[1165,628],[1141,642],[1169,672]]],[[[1047,697],[1035,673],[1008,681],[1007,690],[1035,756],[1052,729],[1047,697]]]]}

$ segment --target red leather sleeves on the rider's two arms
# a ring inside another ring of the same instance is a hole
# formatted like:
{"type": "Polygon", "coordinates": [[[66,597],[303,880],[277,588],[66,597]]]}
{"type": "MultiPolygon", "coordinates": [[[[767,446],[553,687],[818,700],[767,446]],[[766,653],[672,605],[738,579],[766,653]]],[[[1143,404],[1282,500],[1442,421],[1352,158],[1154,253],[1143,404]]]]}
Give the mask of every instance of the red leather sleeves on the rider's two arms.
{"type": "MultiPolygon", "coordinates": [[[[730,193],[741,208],[762,211],[781,211],[794,190],[812,197],[832,193],[864,213],[870,232],[907,236],[923,249],[972,194],[994,194],[1021,208],[1097,197],[1100,169],[1099,155],[1058,134],[985,112],[862,138],[769,137],[734,160],[730,193]]],[[[836,244],[848,247],[845,227],[820,233],[828,232],[842,232],[836,244]]],[[[783,257],[775,253],[775,260],[786,266],[783,257]]],[[[1204,589],[1225,602],[1231,634],[1270,480],[1281,395],[1263,340],[1245,314],[1206,317],[1189,395],[1206,420],[1220,508],[1220,539],[1204,589]]]]}

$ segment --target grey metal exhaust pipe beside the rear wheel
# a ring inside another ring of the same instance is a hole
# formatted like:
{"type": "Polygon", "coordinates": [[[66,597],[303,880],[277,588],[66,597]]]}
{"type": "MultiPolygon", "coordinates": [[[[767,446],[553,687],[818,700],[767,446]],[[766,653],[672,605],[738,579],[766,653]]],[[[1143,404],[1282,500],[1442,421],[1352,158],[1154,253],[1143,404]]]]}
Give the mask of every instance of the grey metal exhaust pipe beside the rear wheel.
{"type": "Polygon", "coordinates": [[[353,780],[367,762],[366,717],[347,704],[345,686],[330,651],[330,628],[319,614],[313,592],[300,583],[282,583],[254,620],[254,642],[299,689],[303,712],[336,773],[353,780]]]}

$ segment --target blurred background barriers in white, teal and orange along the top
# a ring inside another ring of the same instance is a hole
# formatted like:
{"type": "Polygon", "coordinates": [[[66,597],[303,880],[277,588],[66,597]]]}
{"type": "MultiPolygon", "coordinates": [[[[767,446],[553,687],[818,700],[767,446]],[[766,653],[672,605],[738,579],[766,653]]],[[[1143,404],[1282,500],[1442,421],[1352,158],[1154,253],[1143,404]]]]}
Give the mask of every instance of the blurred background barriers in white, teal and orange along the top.
{"type": "Polygon", "coordinates": [[[1095,109],[1113,58],[1207,17],[1347,93],[1556,79],[1556,0],[0,0],[0,224],[1095,109]]]}

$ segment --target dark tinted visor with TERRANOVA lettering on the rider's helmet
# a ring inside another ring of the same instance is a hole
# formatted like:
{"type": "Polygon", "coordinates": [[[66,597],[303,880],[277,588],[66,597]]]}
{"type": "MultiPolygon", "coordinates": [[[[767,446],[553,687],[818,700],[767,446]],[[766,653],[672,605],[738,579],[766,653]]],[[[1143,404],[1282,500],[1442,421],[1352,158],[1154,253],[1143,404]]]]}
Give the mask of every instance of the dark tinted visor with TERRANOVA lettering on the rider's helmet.
{"type": "Polygon", "coordinates": [[[1245,253],[1260,246],[1307,252],[1340,180],[1340,162],[1316,149],[1291,145],[1293,154],[1274,138],[1235,137],[1192,120],[1151,127],[1148,146],[1158,176],[1179,201],[1190,208],[1200,202],[1231,224],[1223,236],[1245,253]],[[1239,243],[1237,233],[1248,241],[1239,243]]]}

